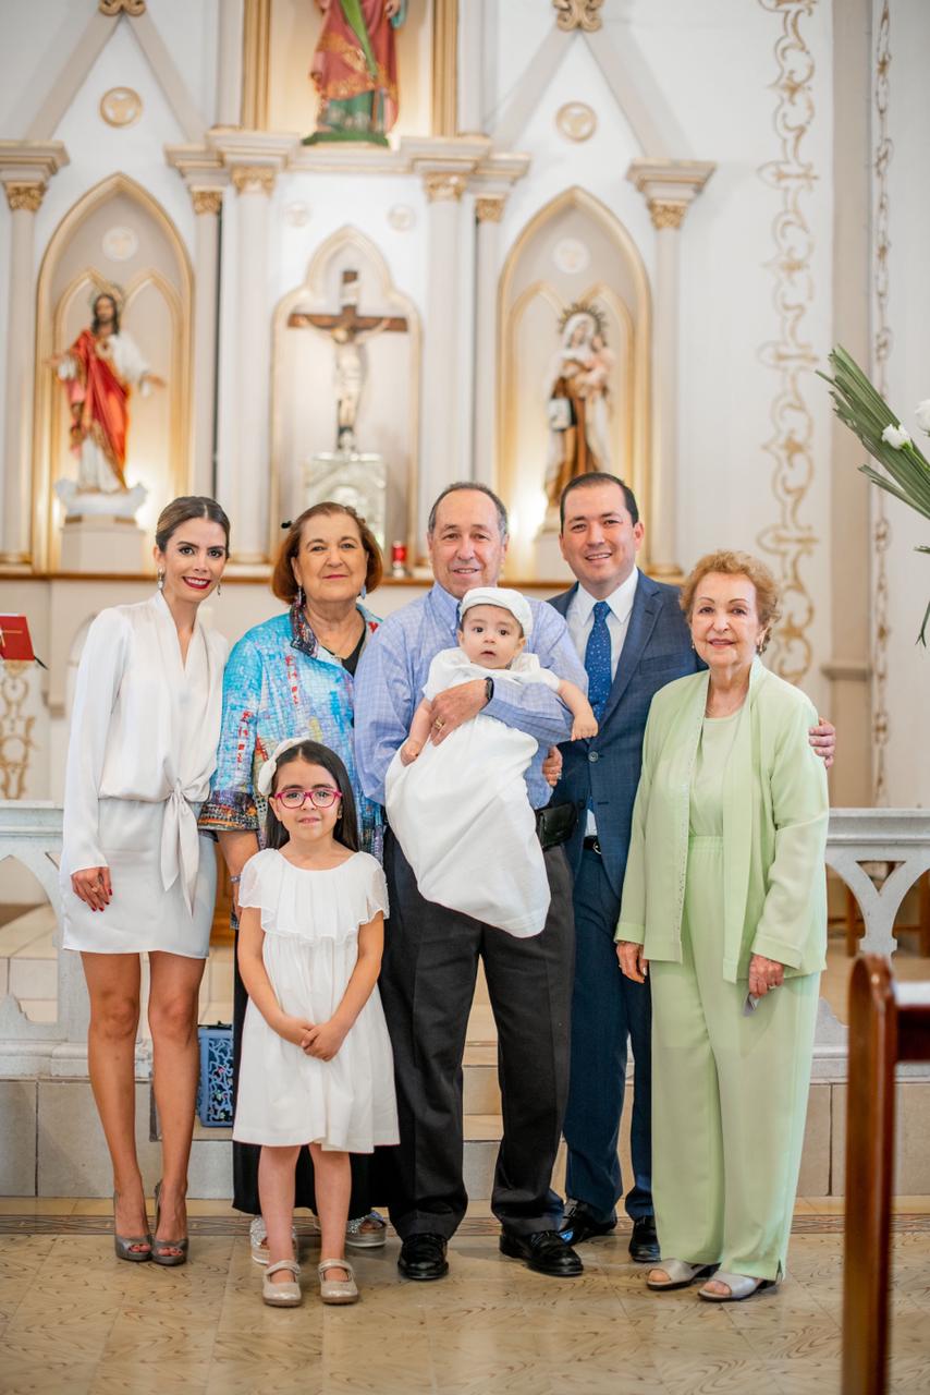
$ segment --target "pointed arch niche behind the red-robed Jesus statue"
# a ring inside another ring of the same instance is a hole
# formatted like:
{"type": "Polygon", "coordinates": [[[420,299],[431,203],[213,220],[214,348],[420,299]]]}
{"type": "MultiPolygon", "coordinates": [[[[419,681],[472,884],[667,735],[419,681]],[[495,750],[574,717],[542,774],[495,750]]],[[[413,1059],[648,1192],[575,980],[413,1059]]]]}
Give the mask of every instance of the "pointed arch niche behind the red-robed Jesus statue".
{"type": "Polygon", "coordinates": [[[74,477],[77,462],[67,400],[47,359],[89,325],[91,297],[107,283],[121,287],[121,325],[166,384],[130,398],[125,473],[130,485],[148,490],[137,515],[142,530],[151,534],[165,504],[188,490],[191,265],[162,205],[128,176],[113,174],[64,215],[39,272],[32,506],[38,555],[50,571],[59,565],[63,518],[53,484],[74,477]]]}

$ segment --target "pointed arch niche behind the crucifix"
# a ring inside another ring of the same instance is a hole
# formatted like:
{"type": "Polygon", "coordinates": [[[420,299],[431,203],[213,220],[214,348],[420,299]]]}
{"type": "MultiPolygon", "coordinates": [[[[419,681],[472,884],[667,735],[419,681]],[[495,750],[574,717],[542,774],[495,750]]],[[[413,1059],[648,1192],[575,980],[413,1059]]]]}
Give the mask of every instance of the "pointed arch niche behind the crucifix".
{"type": "Polygon", "coordinates": [[[280,520],[305,508],[304,466],[336,448],[336,360],[329,331],[289,326],[289,317],[339,314],[342,275],[358,273],[357,311],[363,317],[403,315],[406,331],[376,332],[360,345],[363,388],[356,441],[361,452],[385,460],[388,498],[385,544],[407,543],[413,557],[417,527],[420,421],[420,318],[414,303],[390,280],[378,247],[356,227],[342,227],[322,243],[304,283],[277,303],[272,342],[272,543],[280,520]]]}

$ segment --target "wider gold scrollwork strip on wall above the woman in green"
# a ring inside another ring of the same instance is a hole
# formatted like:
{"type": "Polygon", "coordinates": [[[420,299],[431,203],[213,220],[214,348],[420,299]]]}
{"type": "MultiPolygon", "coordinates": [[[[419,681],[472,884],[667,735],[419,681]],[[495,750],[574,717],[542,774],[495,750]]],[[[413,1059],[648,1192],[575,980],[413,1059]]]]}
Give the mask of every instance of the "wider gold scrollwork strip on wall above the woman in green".
{"type": "Polygon", "coordinates": [[[774,257],[767,262],[775,282],[774,304],[778,338],[760,349],[765,367],[778,375],[770,418],[772,434],[763,449],[775,463],[771,477],[777,519],[759,536],[759,543],[775,558],[782,593],[784,619],[775,632],[771,667],[788,682],[802,681],[813,657],[809,629],[814,603],[802,576],[802,562],[820,538],[802,518],[814,477],[814,418],[805,396],[805,375],[817,364],[809,339],[807,307],[814,297],[811,258],[814,240],[803,211],[803,199],[817,179],[802,145],[814,119],[814,60],[800,32],[817,0],[760,0],[763,10],[777,14],[781,32],[775,42],[778,77],[772,84],[778,102],[772,117],[778,137],[778,158],[759,174],[778,194],[772,219],[774,257]]]}

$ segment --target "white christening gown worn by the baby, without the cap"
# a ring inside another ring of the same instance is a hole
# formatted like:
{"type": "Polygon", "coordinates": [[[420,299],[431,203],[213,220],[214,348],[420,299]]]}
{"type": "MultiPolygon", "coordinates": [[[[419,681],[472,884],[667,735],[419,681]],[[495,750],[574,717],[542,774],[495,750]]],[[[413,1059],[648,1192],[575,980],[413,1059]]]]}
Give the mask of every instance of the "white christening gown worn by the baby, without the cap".
{"type": "MultiPolygon", "coordinates": [[[[443,649],[429,665],[424,695],[494,678],[545,684],[555,674],[535,654],[509,668],[482,668],[462,649],[443,649]]],[[[395,755],[385,780],[388,822],[413,868],[420,894],[509,935],[538,935],[549,910],[549,879],[523,774],[537,742],[526,731],[478,713],[413,764],[395,755]]]]}

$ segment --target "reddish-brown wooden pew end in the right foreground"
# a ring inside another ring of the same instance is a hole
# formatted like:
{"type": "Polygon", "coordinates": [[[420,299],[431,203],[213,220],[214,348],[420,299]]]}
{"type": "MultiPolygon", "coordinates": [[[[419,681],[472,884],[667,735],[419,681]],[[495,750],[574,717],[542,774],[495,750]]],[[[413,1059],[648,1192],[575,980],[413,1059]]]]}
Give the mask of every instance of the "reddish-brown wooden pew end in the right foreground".
{"type": "Polygon", "coordinates": [[[864,954],[849,983],[844,1395],[884,1395],[887,1388],[899,1060],[930,1060],[930,983],[897,983],[888,960],[864,954]]]}

